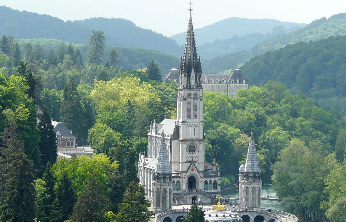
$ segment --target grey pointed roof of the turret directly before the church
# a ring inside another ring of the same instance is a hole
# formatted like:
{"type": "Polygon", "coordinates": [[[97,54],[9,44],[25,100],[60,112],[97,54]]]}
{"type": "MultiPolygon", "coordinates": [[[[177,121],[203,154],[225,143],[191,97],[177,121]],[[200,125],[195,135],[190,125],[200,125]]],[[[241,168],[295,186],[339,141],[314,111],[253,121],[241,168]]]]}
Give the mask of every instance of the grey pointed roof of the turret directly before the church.
{"type": "Polygon", "coordinates": [[[156,175],[165,174],[166,176],[170,176],[172,173],[171,165],[168,160],[167,148],[165,143],[165,134],[163,132],[163,129],[161,135],[160,149],[158,150],[155,173],[156,175]]]}

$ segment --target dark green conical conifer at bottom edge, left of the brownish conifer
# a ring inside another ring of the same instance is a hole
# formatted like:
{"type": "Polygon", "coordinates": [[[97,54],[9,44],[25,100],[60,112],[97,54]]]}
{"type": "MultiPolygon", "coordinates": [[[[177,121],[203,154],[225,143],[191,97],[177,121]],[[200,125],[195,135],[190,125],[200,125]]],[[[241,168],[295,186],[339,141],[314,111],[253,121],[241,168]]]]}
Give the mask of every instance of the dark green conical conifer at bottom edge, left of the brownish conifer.
{"type": "Polygon", "coordinates": [[[61,222],[68,220],[77,201],[77,196],[66,172],[63,172],[61,180],[56,183],[55,196],[50,221],[61,222]]]}

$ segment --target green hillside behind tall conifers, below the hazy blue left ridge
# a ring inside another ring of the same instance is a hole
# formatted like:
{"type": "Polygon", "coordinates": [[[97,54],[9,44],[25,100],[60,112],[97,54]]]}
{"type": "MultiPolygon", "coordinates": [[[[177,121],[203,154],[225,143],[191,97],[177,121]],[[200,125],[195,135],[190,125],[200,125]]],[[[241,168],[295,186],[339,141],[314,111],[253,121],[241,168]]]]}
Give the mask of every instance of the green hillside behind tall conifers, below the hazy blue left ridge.
{"type": "MultiPolygon", "coordinates": [[[[107,39],[106,39],[107,41],[107,39]]],[[[43,48],[43,52],[45,55],[49,53],[49,51],[57,51],[57,49],[65,44],[66,47],[69,43],[66,43],[57,39],[19,39],[18,43],[23,49],[26,43],[30,42],[33,46],[36,43],[40,44],[43,48]]],[[[86,61],[86,54],[90,50],[89,44],[73,44],[74,47],[78,47],[81,51],[81,55],[83,57],[83,61],[86,61]]],[[[110,52],[110,50],[114,47],[107,47],[102,60],[104,61],[110,52]]],[[[171,54],[162,53],[159,51],[151,50],[151,49],[143,49],[143,48],[134,48],[134,47],[116,47],[116,50],[119,54],[119,67],[124,67],[125,70],[129,69],[143,69],[147,66],[152,60],[158,63],[161,72],[165,73],[172,69],[173,66],[179,66],[179,60],[177,57],[171,54]]]]}

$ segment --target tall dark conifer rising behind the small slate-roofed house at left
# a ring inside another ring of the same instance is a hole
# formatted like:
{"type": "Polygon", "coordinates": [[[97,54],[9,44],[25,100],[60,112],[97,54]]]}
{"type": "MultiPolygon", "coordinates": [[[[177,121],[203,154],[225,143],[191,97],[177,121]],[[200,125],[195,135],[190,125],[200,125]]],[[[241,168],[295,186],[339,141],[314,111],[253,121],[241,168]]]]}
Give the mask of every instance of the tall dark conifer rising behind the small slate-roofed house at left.
{"type": "Polygon", "coordinates": [[[62,122],[72,130],[78,139],[86,139],[86,119],[81,106],[74,79],[69,79],[64,87],[63,101],[60,108],[62,122]]]}

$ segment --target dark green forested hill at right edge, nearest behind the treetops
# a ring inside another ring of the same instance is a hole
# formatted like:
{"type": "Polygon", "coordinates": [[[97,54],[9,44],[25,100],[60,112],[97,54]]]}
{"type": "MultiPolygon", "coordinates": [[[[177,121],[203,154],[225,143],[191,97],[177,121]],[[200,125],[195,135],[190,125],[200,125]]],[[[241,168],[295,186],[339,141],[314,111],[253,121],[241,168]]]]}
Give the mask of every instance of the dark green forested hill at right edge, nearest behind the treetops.
{"type": "Polygon", "coordinates": [[[325,110],[346,116],[346,36],[290,44],[256,56],[242,67],[253,85],[280,81],[293,93],[303,93],[325,110]]]}

